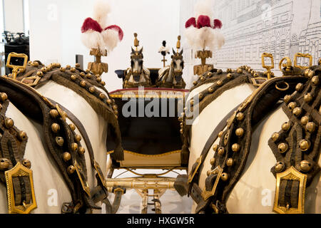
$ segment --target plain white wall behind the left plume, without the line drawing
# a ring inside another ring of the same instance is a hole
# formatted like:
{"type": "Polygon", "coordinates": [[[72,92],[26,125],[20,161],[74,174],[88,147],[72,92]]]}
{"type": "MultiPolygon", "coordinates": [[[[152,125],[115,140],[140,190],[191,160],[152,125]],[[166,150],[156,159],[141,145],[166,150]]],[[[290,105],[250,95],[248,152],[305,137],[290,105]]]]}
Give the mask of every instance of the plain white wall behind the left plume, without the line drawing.
{"type": "MultiPolygon", "coordinates": [[[[81,25],[87,17],[93,16],[95,1],[86,0],[29,0],[30,54],[31,60],[44,63],[58,61],[62,65],[74,65],[75,55],[84,56],[84,68],[93,56],[81,43],[81,25]]],[[[133,33],[138,33],[143,46],[144,65],[161,68],[161,54],[158,48],[163,40],[169,46],[176,46],[179,35],[179,0],[110,0],[110,24],[121,26],[123,41],[102,61],[108,63],[109,71],[103,74],[106,88],[121,88],[117,69],[130,66],[130,52],[133,33]]],[[[169,56],[168,56],[169,61],[169,56]]]]}

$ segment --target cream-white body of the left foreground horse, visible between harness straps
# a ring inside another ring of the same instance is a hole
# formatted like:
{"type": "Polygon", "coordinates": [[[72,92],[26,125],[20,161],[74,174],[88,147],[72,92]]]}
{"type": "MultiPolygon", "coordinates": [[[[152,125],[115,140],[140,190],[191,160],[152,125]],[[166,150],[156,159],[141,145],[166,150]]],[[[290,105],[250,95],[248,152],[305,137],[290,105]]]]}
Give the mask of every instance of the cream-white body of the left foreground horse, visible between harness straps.
{"type": "MultiPolygon", "coordinates": [[[[96,89],[101,90],[100,88],[96,89]]],[[[66,107],[81,121],[91,141],[95,160],[101,166],[103,173],[106,173],[107,121],[101,115],[98,115],[81,95],[54,81],[49,81],[38,91],[46,98],[50,98],[66,107]]],[[[101,93],[108,96],[103,90],[101,90],[101,93]]],[[[12,118],[14,125],[19,130],[24,130],[29,138],[24,157],[31,161],[37,203],[37,208],[31,213],[61,213],[63,202],[71,202],[71,193],[51,155],[46,152],[42,126],[26,118],[12,103],[10,103],[6,111],[6,116],[12,118]]],[[[71,120],[67,118],[66,122],[70,124],[71,120]]],[[[81,135],[77,128],[75,131],[81,135]]],[[[83,138],[83,135],[81,137],[83,138]]],[[[91,167],[86,143],[82,140],[81,144],[86,151],[88,186],[93,189],[93,187],[97,186],[96,172],[91,167]]],[[[4,186],[0,188],[0,199],[3,202],[0,206],[0,213],[8,213],[8,207],[5,203],[6,188],[4,186]]],[[[93,212],[100,212],[100,210],[93,210],[93,212]]]]}

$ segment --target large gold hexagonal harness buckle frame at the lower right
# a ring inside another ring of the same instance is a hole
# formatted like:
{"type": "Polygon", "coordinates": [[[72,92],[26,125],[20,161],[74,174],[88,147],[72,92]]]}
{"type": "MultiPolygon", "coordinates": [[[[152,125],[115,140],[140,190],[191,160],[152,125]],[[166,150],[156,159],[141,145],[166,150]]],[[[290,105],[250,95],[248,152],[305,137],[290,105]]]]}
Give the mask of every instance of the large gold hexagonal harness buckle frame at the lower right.
{"type": "Polygon", "coordinates": [[[280,214],[304,214],[305,212],[305,187],[307,184],[307,175],[297,171],[295,167],[290,167],[285,172],[277,173],[277,183],[273,211],[280,214]],[[300,182],[297,208],[281,207],[279,204],[280,183],[281,180],[296,180],[300,182]]]}

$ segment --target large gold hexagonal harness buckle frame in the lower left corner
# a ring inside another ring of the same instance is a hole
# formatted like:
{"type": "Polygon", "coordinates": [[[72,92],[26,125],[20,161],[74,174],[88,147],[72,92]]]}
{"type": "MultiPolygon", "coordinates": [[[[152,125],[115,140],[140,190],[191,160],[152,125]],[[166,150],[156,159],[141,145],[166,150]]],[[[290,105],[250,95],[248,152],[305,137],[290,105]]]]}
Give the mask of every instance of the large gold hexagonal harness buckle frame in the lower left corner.
{"type": "Polygon", "coordinates": [[[11,170],[8,170],[4,172],[4,175],[6,177],[6,192],[8,196],[8,210],[9,214],[29,214],[31,210],[37,208],[36,203],[36,196],[34,194],[34,178],[32,175],[32,170],[29,170],[27,167],[24,167],[24,165],[21,165],[20,162],[18,162],[11,170]],[[28,177],[30,181],[30,188],[31,188],[31,203],[26,204],[23,202],[22,205],[16,206],[16,201],[14,197],[14,177],[28,177]]]}

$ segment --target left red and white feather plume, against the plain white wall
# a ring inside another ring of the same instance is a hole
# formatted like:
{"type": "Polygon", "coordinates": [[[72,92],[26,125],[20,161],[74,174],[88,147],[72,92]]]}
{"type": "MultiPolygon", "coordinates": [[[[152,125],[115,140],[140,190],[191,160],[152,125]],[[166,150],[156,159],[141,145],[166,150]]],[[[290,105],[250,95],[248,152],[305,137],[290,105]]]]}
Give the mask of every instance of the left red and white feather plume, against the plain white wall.
{"type": "Polygon", "coordinates": [[[108,26],[108,14],[110,6],[106,1],[97,1],[94,6],[93,19],[88,17],[81,26],[81,41],[87,48],[99,48],[113,51],[123,39],[123,30],[119,26],[108,26]]]}

